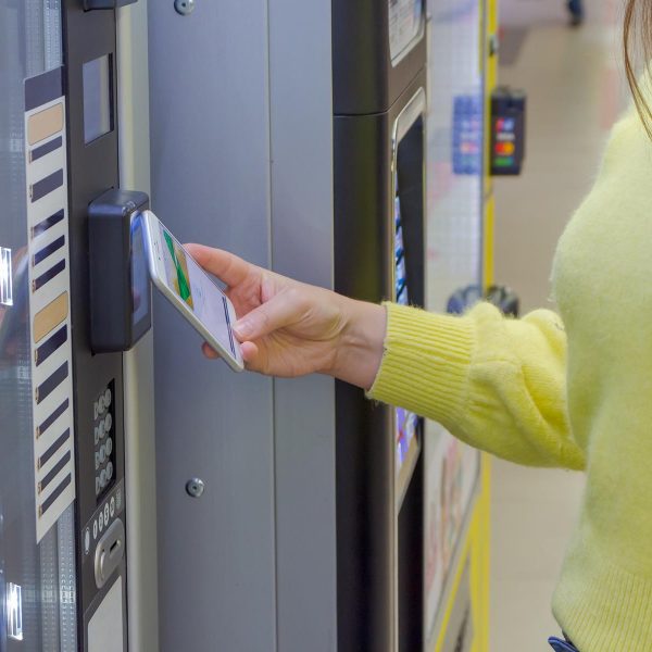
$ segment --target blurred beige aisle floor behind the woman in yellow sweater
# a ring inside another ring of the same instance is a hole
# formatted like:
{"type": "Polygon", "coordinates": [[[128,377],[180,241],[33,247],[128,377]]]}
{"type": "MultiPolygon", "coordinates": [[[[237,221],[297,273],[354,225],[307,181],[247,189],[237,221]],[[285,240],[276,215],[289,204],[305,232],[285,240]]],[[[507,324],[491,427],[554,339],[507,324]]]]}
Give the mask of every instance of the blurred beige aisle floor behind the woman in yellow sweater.
{"type": "MultiPolygon", "coordinates": [[[[561,0],[501,0],[500,83],[524,88],[529,112],[525,173],[496,184],[496,276],[517,291],[524,312],[553,308],[556,241],[625,102],[620,5],[590,0],[587,11],[574,30],[561,0]]],[[[490,650],[549,650],[550,599],[584,478],[499,461],[493,468],[490,650]]]]}

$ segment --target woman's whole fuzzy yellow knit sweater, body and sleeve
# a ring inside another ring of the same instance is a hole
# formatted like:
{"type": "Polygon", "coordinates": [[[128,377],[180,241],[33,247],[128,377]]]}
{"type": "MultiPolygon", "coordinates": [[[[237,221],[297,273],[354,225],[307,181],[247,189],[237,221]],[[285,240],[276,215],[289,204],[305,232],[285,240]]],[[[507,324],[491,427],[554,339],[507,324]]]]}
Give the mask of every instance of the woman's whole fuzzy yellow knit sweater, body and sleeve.
{"type": "Polygon", "coordinates": [[[369,394],[506,460],[586,469],[555,617],[580,652],[650,652],[652,145],[634,111],[560,241],[553,289],[561,317],[388,305],[369,394]]]}

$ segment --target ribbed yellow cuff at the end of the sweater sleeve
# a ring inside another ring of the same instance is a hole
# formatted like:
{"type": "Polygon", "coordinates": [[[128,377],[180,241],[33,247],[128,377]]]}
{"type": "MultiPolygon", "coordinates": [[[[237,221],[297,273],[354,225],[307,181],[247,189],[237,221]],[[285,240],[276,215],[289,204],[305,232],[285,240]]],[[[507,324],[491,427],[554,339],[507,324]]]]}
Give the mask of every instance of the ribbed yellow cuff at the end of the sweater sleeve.
{"type": "Polygon", "coordinates": [[[464,403],[473,324],[386,303],[387,336],[371,399],[418,412],[448,426],[464,403]]]}

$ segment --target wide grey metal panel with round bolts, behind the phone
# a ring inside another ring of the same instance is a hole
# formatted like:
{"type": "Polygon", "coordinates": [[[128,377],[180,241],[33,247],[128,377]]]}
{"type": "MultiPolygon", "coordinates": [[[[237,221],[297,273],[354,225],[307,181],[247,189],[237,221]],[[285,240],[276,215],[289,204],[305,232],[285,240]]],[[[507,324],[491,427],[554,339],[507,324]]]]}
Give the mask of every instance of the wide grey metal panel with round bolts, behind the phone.
{"type": "MultiPolygon", "coordinates": [[[[267,2],[150,2],[149,18],[153,209],[181,240],[268,266],[267,2]]],[[[272,380],[204,360],[163,301],[154,317],[161,650],[269,652],[272,380]]]]}

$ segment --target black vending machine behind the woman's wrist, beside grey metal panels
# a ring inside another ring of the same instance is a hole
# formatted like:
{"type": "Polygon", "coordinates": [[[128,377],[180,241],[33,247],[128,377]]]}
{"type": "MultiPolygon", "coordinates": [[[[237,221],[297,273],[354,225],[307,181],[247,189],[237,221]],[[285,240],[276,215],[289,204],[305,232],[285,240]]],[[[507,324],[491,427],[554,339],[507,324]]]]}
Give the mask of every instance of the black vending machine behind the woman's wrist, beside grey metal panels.
{"type": "MultiPolygon", "coordinates": [[[[425,4],[337,1],[333,25],[335,289],[423,306],[425,4]]],[[[338,649],[418,650],[423,419],[343,383],[336,414],[338,649]]]]}

